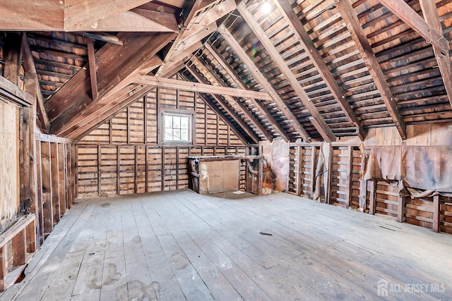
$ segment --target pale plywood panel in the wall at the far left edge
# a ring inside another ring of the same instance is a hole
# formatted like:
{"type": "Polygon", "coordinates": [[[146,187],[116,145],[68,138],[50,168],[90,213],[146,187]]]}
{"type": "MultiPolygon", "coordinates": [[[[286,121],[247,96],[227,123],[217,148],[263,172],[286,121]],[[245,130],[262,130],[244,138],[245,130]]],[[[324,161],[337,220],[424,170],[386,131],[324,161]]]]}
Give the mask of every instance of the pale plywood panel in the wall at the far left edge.
{"type": "Polygon", "coordinates": [[[0,99],[0,228],[19,206],[18,106],[0,99]]]}

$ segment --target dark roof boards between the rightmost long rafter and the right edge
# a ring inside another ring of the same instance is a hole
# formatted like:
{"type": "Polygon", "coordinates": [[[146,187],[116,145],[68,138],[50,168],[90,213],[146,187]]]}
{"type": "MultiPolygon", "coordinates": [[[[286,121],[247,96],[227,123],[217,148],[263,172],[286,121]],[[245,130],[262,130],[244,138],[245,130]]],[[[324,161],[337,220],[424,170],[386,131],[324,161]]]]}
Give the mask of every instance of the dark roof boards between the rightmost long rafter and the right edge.
{"type": "MultiPolygon", "coordinates": [[[[417,1],[408,4],[422,16],[417,1]]],[[[452,10],[451,1],[436,5],[440,16],[452,10]]],[[[378,1],[367,1],[355,9],[404,121],[450,119],[452,109],[432,45],[378,1]]],[[[450,17],[443,19],[443,28],[450,26],[446,25],[450,17]]]]}

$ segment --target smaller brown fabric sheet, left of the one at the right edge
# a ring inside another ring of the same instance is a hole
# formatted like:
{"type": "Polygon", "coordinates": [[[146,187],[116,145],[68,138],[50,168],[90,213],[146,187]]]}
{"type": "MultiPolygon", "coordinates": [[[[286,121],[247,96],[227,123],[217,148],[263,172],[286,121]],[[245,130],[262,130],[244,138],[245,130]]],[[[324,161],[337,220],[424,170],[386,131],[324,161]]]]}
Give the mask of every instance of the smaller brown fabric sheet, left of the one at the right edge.
{"type": "Polygon", "coordinates": [[[369,147],[364,153],[364,180],[400,180],[400,147],[369,147]]]}

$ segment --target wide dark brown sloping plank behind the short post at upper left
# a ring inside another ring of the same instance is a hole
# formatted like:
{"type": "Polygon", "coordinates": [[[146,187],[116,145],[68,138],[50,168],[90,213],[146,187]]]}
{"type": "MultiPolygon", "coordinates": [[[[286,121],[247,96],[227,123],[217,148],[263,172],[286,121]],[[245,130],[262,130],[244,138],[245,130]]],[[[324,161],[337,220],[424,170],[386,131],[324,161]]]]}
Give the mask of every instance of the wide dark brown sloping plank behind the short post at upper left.
{"type": "MultiPolygon", "coordinates": [[[[96,53],[99,90],[97,99],[105,97],[137,68],[148,62],[155,60],[157,66],[160,65],[161,61],[155,54],[174,37],[174,34],[120,33],[119,37],[124,41],[124,47],[106,44],[96,53]]],[[[76,123],[77,117],[81,116],[83,111],[89,111],[89,107],[96,102],[90,97],[88,70],[82,69],[46,103],[51,120],[51,132],[54,134],[65,132],[76,123]]]]}

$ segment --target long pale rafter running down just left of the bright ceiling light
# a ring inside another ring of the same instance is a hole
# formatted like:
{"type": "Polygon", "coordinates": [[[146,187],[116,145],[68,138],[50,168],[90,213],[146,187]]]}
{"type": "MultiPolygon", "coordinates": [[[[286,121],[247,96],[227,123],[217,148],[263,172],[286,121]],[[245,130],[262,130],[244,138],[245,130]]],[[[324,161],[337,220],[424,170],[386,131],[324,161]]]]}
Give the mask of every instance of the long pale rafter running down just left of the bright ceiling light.
{"type": "Polygon", "coordinates": [[[242,15],[244,20],[246,20],[246,23],[248,23],[249,27],[251,27],[251,30],[253,30],[256,37],[258,37],[259,41],[268,52],[271,59],[273,59],[273,62],[276,64],[276,66],[278,66],[284,77],[290,83],[290,86],[295,91],[295,94],[297,94],[299,99],[302,101],[306,109],[313,117],[314,120],[311,120],[313,121],[312,124],[323,137],[323,140],[325,140],[326,142],[335,141],[336,138],[333,131],[325,122],[325,119],[323,119],[323,117],[320,115],[316,106],[314,106],[314,104],[311,102],[307,93],[304,92],[302,86],[299,85],[299,82],[297,78],[295,78],[295,75],[292,73],[292,70],[290,70],[289,66],[287,66],[287,63],[285,63],[283,58],[280,56],[275,45],[273,45],[273,42],[270,41],[266,33],[262,30],[261,25],[259,25],[259,23],[254,19],[254,16],[246,10],[246,4],[244,4],[244,2],[240,3],[237,6],[237,10],[239,11],[240,15],[242,15]]]}

